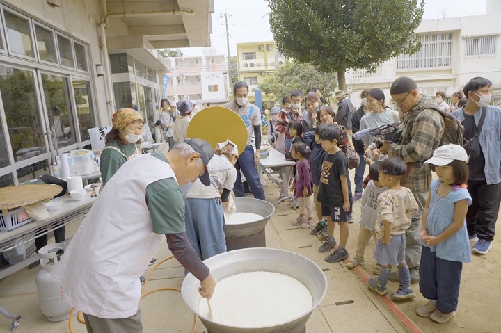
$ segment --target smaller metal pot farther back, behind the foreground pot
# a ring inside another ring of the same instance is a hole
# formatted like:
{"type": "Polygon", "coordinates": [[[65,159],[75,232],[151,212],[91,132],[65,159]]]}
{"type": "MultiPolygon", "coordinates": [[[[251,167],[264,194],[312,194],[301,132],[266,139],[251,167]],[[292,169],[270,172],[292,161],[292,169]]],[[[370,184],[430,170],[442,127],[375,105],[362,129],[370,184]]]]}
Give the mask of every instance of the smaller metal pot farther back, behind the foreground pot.
{"type": "Polygon", "coordinates": [[[235,197],[235,206],[237,213],[255,213],[262,216],[261,220],[255,222],[242,223],[239,225],[226,225],[226,238],[241,238],[257,234],[260,232],[269,220],[269,217],[275,212],[275,206],[267,201],[255,199],[253,197],[235,197]]]}

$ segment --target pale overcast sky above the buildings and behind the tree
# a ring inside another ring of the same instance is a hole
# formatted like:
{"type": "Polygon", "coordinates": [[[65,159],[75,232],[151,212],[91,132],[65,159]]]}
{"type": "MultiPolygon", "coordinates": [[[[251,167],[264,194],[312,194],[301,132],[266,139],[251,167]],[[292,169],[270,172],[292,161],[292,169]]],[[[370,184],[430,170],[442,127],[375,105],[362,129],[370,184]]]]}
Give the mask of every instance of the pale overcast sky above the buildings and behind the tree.
{"type": "MultiPolygon", "coordinates": [[[[499,1],[499,0],[495,0],[499,1]]],[[[483,15],[486,13],[487,0],[426,0],[423,19],[438,19],[440,17],[459,17],[483,15]]],[[[230,32],[230,56],[237,54],[237,43],[261,42],[273,40],[269,25],[269,7],[265,0],[214,0],[214,14],[212,14],[211,45],[216,54],[227,54],[226,28],[224,17],[227,12],[230,32]],[[244,5],[245,3],[245,5],[244,5]]],[[[182,49],[186,56],[202,56],[202,47],[182,49]]]]}

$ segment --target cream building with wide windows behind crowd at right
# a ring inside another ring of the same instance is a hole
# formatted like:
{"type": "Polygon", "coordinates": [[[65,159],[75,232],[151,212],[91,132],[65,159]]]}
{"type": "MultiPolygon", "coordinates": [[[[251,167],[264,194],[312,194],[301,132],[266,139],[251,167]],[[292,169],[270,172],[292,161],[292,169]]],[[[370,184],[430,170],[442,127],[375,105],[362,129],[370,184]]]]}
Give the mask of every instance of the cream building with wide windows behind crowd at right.
{"type": "Polygon", "coordinates": [[[415,34],[422,42],[416,54],[401,54],[376,72],[349,70],[347,90],[360,105],[359,92],[381,88],[390,101],[389,88],[397,77],[409,76],[424,94],[443,91],[447,97],[475,76],[493,82],[493,100],[501,104],[501,1],[487,0],[486,15],[423,20],[415,34]],[[497,23],[496,23],[497,22],[497,23]]]}

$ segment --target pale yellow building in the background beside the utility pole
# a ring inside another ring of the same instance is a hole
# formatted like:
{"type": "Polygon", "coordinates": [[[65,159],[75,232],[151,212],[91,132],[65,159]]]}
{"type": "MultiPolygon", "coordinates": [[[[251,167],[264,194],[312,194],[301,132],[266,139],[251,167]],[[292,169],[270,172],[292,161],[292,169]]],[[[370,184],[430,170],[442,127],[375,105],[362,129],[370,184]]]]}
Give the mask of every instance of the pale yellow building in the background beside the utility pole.
{"type": "MultiPolygon", "coordinates": [[[[276,49],[273,40],[237,44],[239,81],[244,81],[248,84],[249,101],[255,101],[255,89],[264,81],[264,78],[284,63],[285,58],[276,49]]],[[[273,106],[273,101],[268,101],[265,95],[262,98],[263,108],[271,108],[273,106]]]]}

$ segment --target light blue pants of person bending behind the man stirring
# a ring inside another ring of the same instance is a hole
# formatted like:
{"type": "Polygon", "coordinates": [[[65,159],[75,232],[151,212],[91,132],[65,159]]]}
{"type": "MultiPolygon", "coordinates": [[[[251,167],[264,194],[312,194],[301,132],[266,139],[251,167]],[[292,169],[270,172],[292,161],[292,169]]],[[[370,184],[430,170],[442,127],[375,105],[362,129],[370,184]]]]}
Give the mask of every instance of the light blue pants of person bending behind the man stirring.
{"type": "Polygon", "coordinates": [[[184,221],[186,235],[200,259],[226,252],[225,222],[221,198],[187,197],[184,221]]]}

